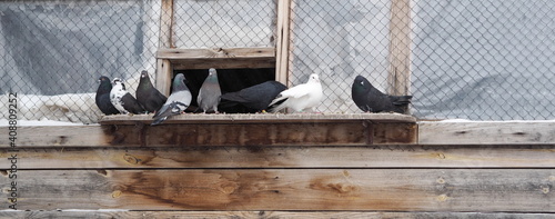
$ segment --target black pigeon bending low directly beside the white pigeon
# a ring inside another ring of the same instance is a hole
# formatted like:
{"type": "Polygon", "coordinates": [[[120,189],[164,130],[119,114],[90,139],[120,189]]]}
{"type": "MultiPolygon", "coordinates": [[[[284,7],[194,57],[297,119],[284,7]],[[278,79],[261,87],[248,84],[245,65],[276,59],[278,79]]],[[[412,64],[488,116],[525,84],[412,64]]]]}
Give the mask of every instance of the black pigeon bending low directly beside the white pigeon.
{"type": "Polygon", "coordinates": [[[287,89],[287,87],[283,83],[266,81],[236,92],[224,93],[222,94],[222,102],[240,103],[255,111],[262,111],[265,110],[270,102],[285,89],[287,89]]]}

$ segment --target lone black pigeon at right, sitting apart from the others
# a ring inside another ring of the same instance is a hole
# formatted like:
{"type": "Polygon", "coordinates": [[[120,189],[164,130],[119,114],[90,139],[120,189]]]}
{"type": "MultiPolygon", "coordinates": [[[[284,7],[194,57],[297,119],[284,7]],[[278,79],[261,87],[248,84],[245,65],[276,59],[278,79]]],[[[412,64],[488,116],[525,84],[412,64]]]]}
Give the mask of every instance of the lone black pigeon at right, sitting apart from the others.
{"type": "Polygon", "coordinates": [[[389,96],[374,88],[366,78],[356,76],[352,87],[354,103],[364,112],[405,113],[412,96],[389,96]]]}

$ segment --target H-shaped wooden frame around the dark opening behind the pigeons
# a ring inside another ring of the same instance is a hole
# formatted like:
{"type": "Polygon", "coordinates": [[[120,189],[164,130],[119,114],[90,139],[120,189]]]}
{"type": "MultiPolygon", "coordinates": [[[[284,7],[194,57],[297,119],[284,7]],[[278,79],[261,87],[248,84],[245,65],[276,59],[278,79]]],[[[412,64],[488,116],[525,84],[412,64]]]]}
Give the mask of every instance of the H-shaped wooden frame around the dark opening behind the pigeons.
{"type": "Polygon", "coordinates": [[[170,94],[173,70],[209,68],[276,68],[275,79],[286,84],[289,1],[278,1],[275,48],[184,49],[174,47],[173,0],[162,1],[160,49],[157,52],[157,88],[170,94]],[[278,51],[276,51],[278,50],[278,51]]]}

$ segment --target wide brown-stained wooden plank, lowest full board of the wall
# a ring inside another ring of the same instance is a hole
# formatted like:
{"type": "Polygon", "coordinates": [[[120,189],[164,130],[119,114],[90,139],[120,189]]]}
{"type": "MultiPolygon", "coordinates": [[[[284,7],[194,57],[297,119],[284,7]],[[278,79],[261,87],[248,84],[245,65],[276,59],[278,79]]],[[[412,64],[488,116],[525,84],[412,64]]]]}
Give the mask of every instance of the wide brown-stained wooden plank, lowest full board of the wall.
{"type": "Polygon", "coordinates": [[[20,210],[555,212],[554,183],[553,169],[19,170],[17,191],[20,210]]]}

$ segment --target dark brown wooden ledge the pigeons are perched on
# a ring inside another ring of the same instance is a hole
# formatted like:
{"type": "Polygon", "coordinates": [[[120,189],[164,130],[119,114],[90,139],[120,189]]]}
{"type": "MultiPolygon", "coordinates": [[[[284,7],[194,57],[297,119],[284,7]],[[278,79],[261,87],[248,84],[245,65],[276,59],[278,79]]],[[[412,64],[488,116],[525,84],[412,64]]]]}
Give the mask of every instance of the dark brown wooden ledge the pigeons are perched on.
{"type": "Polygon", "coordinates": [[[259,113],[172,117],[150,126],[152,115],[101,120],[111,146],[370,146],[416,143],[416,119],[406,115],[259,113]]]}

